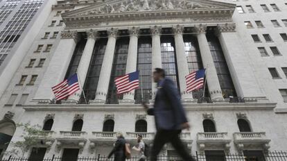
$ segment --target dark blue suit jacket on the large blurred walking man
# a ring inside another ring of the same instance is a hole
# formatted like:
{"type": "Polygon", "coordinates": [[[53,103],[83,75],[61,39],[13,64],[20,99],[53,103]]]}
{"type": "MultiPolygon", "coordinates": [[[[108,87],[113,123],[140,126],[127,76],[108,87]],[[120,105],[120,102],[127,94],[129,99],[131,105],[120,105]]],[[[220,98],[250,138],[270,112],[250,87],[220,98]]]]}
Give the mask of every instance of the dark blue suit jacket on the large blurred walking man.
{"type": "Polygon", "coordinates": [[[164,78],[158,83],[154,108],[148,109],[148,115],[155,116],[157,130],[180,130],[187,122],[180,94],[173,80],[164,78]]]}

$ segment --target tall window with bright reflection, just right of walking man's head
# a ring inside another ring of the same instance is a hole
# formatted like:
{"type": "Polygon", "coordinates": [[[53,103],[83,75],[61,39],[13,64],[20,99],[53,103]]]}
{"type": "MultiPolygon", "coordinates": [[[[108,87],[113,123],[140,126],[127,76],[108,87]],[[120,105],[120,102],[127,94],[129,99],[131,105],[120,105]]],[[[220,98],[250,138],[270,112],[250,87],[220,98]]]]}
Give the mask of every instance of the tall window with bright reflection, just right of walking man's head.
{"type": "MultiPolygon", "coordinates": [[[[179,88],[177,81],[177,62],[175,56],[174,38],[171,36],[161,37],[162,46],[162,68],[166,71],[166,77],[171,78],[179,88]]],[[[178,89],[180,91],[180,89],[178,89]]]]}

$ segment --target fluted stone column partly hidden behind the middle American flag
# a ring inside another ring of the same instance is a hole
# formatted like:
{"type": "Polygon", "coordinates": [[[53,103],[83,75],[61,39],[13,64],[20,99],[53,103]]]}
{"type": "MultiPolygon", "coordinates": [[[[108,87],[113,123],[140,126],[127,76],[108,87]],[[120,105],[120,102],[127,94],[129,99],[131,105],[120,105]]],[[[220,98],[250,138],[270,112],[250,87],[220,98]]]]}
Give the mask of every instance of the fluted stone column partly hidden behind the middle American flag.
{"type": "MultiPolygon", "coordinates": [[[[130,33],[130,44],[128,45],[128,60],[125,69],[125,74],[137,71],[137,42],[139,28],[132,27],[128,29],[130,33]]],[[[134,103],[134,90],[123,95],[123,100],[120,103],[134,103]]]]}

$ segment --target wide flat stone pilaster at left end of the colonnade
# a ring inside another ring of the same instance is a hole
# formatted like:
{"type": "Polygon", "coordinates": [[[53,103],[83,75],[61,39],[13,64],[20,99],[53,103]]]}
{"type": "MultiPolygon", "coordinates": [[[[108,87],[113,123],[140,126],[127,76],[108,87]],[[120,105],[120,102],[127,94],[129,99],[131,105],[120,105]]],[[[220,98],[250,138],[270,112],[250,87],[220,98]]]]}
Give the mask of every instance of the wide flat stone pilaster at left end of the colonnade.
{"type": "Polygon", "coordinates": [[[61,40],[49,62],[49,67],[46,69],[42,82],[38,87],[34,101],[50,103],[55,98],[51,87],[64,80],[78,40],[77,31],[62,31],[61,40]]]}

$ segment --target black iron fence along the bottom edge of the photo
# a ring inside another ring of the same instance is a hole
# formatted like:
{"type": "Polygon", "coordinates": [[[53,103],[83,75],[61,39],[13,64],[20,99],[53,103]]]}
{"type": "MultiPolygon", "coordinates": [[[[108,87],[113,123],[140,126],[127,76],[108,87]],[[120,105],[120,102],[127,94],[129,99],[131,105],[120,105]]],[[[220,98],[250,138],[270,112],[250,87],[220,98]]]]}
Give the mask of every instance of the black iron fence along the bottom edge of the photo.
{"type": "MultiPolygon", "coordinates": [[[[193,156],[195,161],[214,161],[214,160],[225,160],[225,161],[247,161],[247,160],[258,160],[258,161],[286,161],[287,160],[287,152],[285,151],[274,151],[274,152],[268,152],[268,153],[257,153],[254,155],[244,155],[244,154],[228,154],[225,155],[224,153],[215,153],[212,155],[205,155],[205,154],[200,154],[200,153],[195,153],[193,156]]],[[[13,158],[10,156],[9,158],[3,158],[0,159],[0,161],[28,161],[28,158],[13,158]]],[[[60,157],[55,157],[53,158],[46,158],[42,159],[39,158],[37,160],[42,160],[42,161],[62,161],[62,160],[76,160],[76,158],[60,158],[60,157]]],[[[106,160],[114,160],[113,158],[108,159],[107,156],[105,155],[100,155],[98,154],[94,158],[89,158],[89,157],[82,157],[78,158],[78,161],[106,161],[106,160]]],[[[137,161],[139,158],[137,157],[132,157],[130,161],[137,161]]],[[[150,160],[148,158],[148,160],[150,160]]],[[[178,155],[159,155],[157,157],[157,160],[159,161],[182,161],[182,158],[178,155]]]]}

